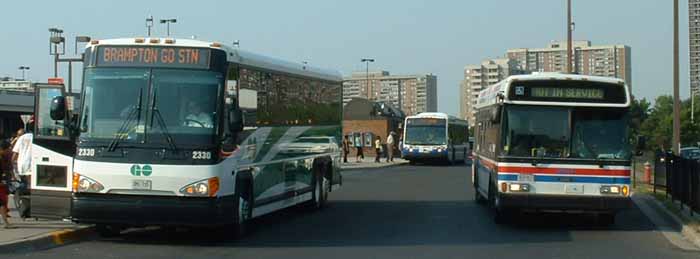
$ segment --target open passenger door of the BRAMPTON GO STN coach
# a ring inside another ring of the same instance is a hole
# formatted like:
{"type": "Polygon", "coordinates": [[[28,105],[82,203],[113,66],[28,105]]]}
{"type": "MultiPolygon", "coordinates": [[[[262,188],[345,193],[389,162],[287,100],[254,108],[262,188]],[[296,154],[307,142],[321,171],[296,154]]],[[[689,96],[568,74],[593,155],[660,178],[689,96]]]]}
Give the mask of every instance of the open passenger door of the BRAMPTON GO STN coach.
{"type": "Polygon", "coordinates": [[[63,85],[37,84],[34,98],[30,215],[69,218],[76,146],[68,124],[77,100],[66,96],[63,85]]]}

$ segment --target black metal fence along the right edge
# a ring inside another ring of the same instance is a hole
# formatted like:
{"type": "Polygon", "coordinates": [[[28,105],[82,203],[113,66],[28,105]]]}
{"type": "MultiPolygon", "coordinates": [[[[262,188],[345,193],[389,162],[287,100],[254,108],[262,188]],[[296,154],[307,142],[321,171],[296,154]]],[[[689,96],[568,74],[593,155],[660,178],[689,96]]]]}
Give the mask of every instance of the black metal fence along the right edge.
{"type": "Polygon", "coordinates": [[[700,213],[700,161],[665,153],[654,159],[654,193],[664,188],[666,197],[700,213]]]}

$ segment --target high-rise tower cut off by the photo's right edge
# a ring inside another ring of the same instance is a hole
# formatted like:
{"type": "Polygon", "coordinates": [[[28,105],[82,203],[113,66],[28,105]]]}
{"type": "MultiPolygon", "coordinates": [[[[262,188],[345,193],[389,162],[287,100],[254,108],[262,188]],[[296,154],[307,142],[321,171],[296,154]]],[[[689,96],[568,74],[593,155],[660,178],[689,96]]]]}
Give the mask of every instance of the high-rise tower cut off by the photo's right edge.
{"type": "Polygon", "coordinates": [[[700,91],[700,0],[688,0],[690,92],[700,91]]]}

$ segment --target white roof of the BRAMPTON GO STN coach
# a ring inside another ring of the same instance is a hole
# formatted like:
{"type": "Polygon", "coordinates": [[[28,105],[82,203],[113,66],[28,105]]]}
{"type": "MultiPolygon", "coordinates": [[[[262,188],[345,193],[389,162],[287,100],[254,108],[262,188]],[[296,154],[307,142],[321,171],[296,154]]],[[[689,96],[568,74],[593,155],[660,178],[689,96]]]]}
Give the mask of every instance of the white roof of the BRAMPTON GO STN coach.
{"type": "Polygon", "coordinates": [[[168,46],[168,47],[195,47],[195,48],[210,48],[210,49],[221,49],[227,53],[226,57],[229,62],[238,63],[241,65],[247,65],[257,68],[269,69],[272,71],[278,71],[293,75],[306,76],[319,78],[328,81],[342,81],[343,77],[340,72],[335,70],[327,70],[318,67],[313,67],[301,63],[294,63],[289,61],[284,61],[280,59],[275,59],[253,52],[241,50],[239,48],[234,48],[233,46],[201,41],[192,39],[173,39],[173,38],[117,38],[117,39],[105,39],[92,41],[88,43],[85,48],[92,48],[94,46],[100,45],[133,45],[133,46],[168,46]],[[143,40],[143,43],[136,43],[136,40],[143,40]],[[151,39],[158,40],[158,43],[150,43],[151,39]],[[167,40],[173,40],[173,43],[165,43],[167,40]],[[218,45],[218,46],[216,46],[218,45]]]}

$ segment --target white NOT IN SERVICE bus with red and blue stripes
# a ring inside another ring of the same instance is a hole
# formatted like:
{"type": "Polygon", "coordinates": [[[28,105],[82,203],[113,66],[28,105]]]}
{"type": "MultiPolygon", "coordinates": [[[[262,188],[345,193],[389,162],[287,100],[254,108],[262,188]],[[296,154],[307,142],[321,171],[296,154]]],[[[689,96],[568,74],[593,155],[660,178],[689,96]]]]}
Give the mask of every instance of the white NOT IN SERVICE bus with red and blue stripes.
{"type": "Polygon", "coordinates": [[[593,212],[614,223],[630,206],[630,93],[623,80],[517,75],[477,100],[475,199],[503,222],[522,211],[593,212]]]}

